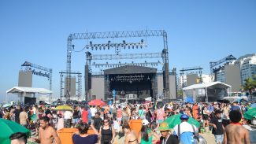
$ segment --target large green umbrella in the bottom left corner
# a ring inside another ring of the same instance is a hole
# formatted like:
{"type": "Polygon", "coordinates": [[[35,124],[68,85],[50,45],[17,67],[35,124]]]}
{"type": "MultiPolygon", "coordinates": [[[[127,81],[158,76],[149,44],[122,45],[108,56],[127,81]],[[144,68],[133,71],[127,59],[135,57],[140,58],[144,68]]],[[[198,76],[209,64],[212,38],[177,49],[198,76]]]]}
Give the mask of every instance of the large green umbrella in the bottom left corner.
{"type": "Polygon", "coordinates": [[[28,137],[31,135],[31,132],[21,126],[20,124],[17,124],[16,122],[13,122],[11,120],[4,120],[0,119],[0,142],[1,144],[9,144],[11,143],[9,140],[9,136],[16,132],[24,132],[28,135],[28,137]]]}

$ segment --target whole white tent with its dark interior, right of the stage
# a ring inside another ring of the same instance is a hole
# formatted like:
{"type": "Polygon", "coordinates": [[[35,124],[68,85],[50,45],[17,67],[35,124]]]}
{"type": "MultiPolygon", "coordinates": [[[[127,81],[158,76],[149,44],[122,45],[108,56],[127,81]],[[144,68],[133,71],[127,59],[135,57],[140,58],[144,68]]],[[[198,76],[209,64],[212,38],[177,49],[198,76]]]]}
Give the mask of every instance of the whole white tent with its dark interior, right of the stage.
{"type": "Polygon", "coordinates": [[[221,82],[199,83],[184,87],[184,99],[190,97],[195,102],[216,102],[228,96],[230,85],[221,82]]]}

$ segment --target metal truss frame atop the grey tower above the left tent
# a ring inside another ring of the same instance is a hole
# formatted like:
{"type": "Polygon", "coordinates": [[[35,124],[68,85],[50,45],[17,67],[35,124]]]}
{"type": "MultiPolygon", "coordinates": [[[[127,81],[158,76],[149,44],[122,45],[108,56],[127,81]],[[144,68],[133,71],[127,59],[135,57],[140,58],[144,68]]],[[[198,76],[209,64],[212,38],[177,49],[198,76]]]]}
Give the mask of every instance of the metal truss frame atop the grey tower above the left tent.
{"type": "Polygon", "coordinates": [[[53,74],[53,69],[52,68],[46,68],[46,67],[43,67],[41,65],[35,65],[31,62],[28,62],[28,61],[25,61],[23,65],[21,65],[22,67],[32,67],[32,68],[38,68],[42,71],[45,71],[45,72],[49,72],[49,74],[46,74],[46,73],[42,73],[42,72],[35,72],[35,71],[32,71],[32,73],[34,75],[37,75],[37,76],[43,76],[43,77],[46,77],[50,80],[50,90],[52,90],[52,74],[53,74]]]}

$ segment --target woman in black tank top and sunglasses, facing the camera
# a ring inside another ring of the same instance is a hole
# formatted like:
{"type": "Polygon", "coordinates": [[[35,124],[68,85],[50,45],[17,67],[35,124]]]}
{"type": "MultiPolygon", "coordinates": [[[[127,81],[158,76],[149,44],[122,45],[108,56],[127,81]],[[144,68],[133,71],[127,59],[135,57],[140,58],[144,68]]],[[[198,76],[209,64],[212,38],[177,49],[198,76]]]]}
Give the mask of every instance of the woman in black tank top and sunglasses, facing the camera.
{"type": "Polygon", "coordinates": [[[110,144],[113,143],[113,140],[116,136],[116,132],[111,124],[109,124],[108,119],[103,120],[103,125],[99,129],[101,135],[101,144],[110,144]]]}

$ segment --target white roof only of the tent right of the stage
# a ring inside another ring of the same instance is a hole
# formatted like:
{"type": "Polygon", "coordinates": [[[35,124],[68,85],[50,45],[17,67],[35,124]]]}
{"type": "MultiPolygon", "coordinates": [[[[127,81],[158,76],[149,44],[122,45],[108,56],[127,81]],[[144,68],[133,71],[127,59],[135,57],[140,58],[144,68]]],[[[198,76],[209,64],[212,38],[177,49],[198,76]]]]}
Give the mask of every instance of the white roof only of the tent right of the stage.
{"type": "Polygon", "coordinates": [[[221,82],[211,82],[211,83],[199,83],[199,84],[193,84],[188,87],[184,87],[183,90],[191,90],[191,89],[199,89],[199,88],[206,88],[206,87],[212,87],[214,85],[218,85],[219,87],[231,87],[230,85],[226,83],[221,82]]]}

